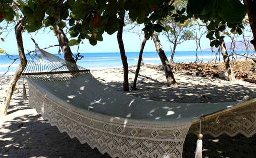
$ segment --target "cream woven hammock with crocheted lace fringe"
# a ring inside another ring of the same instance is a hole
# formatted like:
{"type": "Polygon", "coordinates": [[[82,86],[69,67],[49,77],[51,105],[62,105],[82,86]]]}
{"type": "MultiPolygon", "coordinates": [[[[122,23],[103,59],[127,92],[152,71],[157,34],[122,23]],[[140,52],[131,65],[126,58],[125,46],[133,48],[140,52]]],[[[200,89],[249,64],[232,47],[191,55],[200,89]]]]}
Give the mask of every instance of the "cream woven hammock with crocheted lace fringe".
{"type": "Polygon", "coordinates": [[[256,99],[240,104],[144,100],[101,84],[89,70],[38,46],[23,74],[31,107],[61,132],[111,157],[179,158],[188,132],[247,137],[256,132],[256,99]]]}

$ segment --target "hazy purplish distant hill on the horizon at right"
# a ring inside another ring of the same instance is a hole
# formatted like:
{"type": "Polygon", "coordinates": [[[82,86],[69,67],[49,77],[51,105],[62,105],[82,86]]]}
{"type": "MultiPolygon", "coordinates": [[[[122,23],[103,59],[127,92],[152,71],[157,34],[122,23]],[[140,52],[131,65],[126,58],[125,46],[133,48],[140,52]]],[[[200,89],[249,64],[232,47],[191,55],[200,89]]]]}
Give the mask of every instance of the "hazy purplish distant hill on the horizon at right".
{"type": "MultiPolygon", "coordinates": [[[[250,43],[250,41],[246,41],[247,45],[248,45],[248,50],[254,50],[254,47],[253,45],[250,43]]],[[[228,42],[228,43],[225,43],[226,44],[226,48],[228,49],[228,51],[230,51],[230,46],[231,46],[231,42],[228,42]]],[[[232,44],[232,49],[233,49],[233,46],[234,43],[232,44]]],[[[206,48],[204,49],[203,51],[217,51],[218,48],[216,47],[209,47],[209,48],[206,48]]],[[[246,47],[245,47],[245,44],[244,44],[244,41],[235,41],[235,49],[236,51],[246,51],[246,47]]]]}

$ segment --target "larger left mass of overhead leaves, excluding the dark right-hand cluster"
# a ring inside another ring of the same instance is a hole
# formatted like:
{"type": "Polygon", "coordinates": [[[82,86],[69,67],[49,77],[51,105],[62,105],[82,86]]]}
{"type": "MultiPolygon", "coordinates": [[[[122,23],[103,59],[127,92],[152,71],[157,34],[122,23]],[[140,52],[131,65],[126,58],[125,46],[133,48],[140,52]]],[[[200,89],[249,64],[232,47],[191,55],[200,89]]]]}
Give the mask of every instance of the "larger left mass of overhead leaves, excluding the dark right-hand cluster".
{"type": "MultiPolygon", "coordinates": [[[[12,0],[0,3],[0,22],[5,19],[12,21],[17,12],[12,0]]],[[[35,32],[42,27],[58,25],[66,27],[72,40],[70,45],[88,39],[95,45],[102,41],[102,34],[114,34],[124,22],[119,17],[125,12],[132,21],[144,24],[145,30],[153,34],[164,28],[158,23],[167,16],[174,7],[170,0],[18,0],[19,12],[26,17],[25,28],[35,32]]],[[[17,8],[17,6],[16,6],[17,8]]]]}

